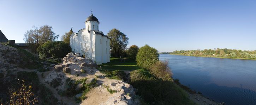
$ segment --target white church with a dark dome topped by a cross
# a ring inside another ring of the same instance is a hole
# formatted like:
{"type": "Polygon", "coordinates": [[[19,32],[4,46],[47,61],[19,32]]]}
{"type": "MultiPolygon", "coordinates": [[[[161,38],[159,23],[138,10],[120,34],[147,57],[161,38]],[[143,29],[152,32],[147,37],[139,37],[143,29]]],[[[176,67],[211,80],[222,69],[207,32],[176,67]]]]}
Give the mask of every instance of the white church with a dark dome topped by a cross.
{"type": "Polygon", "coordinates": [[[99,20],[93,13],[85,20],[85,28],[70,36],[72,51],[91,58],[97,64],[110,61],[110,38],[99,31],[99,20]]]}

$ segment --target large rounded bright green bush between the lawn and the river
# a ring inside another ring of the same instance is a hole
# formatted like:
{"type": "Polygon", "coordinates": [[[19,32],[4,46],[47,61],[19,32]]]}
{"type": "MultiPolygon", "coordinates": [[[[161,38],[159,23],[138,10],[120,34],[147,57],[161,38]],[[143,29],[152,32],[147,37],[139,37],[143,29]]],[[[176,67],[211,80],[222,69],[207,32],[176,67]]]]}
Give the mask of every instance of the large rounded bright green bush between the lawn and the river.
{"type": "Polygon", "coordinates": [[[149,69],[157,61],[159,61],[159,54],[155,48],[150,47],[148,44],[139,48],[136,56],[137,65],[149,69]]]}

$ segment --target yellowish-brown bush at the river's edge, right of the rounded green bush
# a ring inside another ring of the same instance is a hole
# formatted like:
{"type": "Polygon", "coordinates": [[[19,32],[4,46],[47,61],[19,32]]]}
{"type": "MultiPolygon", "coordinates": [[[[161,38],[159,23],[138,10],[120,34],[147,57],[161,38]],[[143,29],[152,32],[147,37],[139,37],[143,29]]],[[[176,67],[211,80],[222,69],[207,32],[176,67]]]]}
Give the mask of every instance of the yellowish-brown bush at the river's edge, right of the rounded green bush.
{"type": "Polygon", "coordinates": [[[158,61],[150,67],[150,72],[162,80],[172,80],[172,72],[167,61],[158,61]]]}

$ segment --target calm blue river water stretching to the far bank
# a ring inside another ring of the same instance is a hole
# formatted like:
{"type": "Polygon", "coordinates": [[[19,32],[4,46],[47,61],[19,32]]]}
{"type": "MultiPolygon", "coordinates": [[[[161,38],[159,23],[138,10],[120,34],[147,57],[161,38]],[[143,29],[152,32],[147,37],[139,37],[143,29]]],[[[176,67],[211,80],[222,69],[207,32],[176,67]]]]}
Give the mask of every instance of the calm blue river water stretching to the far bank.
{"type": "Polygon", "coordinates": [[[256,105],[256,60],[160,54],[173,78],[227,105],[256,105]]]}

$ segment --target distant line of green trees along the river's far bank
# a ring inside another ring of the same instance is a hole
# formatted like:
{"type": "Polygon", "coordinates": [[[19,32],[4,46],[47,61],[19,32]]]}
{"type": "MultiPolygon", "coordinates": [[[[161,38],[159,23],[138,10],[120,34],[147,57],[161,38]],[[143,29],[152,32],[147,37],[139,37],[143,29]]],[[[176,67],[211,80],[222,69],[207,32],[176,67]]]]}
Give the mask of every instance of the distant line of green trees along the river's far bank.
{"type": "Polygon", "coordinates": [[[204,49],[204,50],[180,50],[173,51],[170,54],[187,55],[187,56],[208,56],[208,57],[225,57],[225,58],[249,58],[256,59],[256,50],[242,51],[232,49],[204,49]]]}

